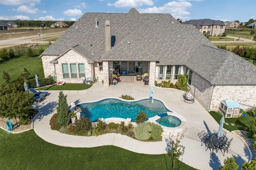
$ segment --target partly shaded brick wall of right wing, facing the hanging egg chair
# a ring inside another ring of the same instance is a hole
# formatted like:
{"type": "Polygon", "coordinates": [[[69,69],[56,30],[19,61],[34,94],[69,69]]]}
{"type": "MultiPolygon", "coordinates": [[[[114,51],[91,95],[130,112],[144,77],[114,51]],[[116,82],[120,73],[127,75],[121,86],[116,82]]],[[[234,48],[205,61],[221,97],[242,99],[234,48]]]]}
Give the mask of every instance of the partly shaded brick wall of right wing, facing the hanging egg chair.
{"type": "MultiPolygon", "coordinates": [[[[196,74],[195,72],[192,73],[192,80],[191,85],[196,87],[195,98],[196,100],[206,109],[210,105],[211,100],[211,93],[212,93],[212,85],[203,79],[201,76],[196,74]]],[[[193,86],[191,86],[193,90],[193,86]]]]}

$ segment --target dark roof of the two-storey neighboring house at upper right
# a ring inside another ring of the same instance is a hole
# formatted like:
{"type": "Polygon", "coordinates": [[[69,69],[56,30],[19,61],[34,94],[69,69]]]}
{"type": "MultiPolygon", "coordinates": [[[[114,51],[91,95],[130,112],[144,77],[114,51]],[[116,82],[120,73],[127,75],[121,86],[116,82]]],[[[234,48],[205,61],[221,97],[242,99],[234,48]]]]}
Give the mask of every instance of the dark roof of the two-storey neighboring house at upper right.
{"type": "Polygon", "coordinates": [[[225,24],[220,20],[211,20],[211,19],[189,20],[189,21],[183,22],[182,24],[191,24],[193,26],[196,26],[196,28],[202,28],[202,26],[213,26],[213,25],[225,26],[225,24]]]}

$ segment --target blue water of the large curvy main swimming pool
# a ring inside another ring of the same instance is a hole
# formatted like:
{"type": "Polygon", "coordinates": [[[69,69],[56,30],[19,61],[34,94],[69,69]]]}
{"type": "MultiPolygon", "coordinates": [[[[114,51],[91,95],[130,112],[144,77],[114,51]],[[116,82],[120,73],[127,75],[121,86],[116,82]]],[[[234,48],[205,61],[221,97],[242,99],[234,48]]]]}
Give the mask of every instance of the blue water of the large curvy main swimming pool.
{"type": "Polygon", "coordinates": [[[81,116],[87,117],[93,122],[98,118],[131,118],[136,122],[136,117],[140,111],[146,113],[149,117],[154,117],[163,113],[171,112],[161,101],[154,99],[143,99],[140,101],[121,101],[119,99],[103,99],[93,103],[82,103],[77,105],[82,111],[81,116]]]}

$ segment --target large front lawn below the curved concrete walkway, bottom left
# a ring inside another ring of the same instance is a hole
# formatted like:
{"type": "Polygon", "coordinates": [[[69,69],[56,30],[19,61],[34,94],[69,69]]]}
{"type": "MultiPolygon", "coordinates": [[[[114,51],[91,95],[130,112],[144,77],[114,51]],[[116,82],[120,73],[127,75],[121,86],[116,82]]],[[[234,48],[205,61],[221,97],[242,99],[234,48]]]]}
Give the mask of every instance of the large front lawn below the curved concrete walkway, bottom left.
{"type": "MultiPolygon", "coordinates": [[[[1,169],[4,170],[171,169],[171,160],[166,154],[138,154],[116,146],[95,148],[56,146],[42,140],[34,130],[19,134],[6,134],[0,129],[0,139],[0,162],[1,169]]],[[[177,162],[175,165],[178,165],[177,162]]],[[[195,170],[184,163],[181,164],[180,169],[195,170]]]]}

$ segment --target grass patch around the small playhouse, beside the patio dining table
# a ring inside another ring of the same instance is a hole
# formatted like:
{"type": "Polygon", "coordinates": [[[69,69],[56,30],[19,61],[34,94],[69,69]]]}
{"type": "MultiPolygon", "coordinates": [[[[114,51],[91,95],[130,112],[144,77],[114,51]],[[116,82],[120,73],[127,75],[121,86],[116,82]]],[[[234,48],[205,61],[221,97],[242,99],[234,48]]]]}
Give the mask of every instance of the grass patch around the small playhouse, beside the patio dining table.
{"type": "MultiPolygon", "coordinates": [[[[222,118],[222,114],[215,111],[210,111],[210,115],[220,124],[220,119],[222,118]]],[[[232,130],[246,130],[246,127],[250,125],[250,121],[254,120],[254,117],[246,114],[245,117],[238,118],[225,118],[225,123],[223,128],[232,131],[232,130]]],[[[217,129],[218,130],[218,129],[217,129]]]]}

